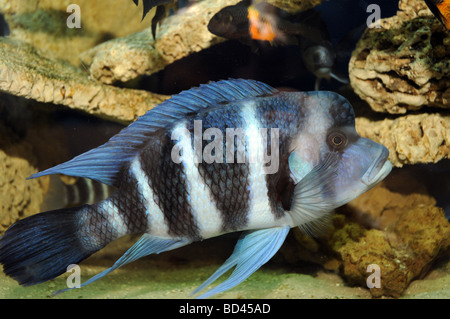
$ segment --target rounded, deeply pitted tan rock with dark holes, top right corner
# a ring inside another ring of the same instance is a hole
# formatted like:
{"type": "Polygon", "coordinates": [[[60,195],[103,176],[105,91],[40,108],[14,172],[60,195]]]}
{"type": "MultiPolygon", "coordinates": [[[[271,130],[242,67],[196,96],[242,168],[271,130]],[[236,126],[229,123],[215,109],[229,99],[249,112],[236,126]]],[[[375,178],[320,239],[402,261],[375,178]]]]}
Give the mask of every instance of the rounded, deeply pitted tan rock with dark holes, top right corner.
{"type": "Polygon", "coordinates": [[[402,0],[399,9],[359,40],[351,86],[378,112],[450,108],[450,34],[424,1],[402,0]]]}

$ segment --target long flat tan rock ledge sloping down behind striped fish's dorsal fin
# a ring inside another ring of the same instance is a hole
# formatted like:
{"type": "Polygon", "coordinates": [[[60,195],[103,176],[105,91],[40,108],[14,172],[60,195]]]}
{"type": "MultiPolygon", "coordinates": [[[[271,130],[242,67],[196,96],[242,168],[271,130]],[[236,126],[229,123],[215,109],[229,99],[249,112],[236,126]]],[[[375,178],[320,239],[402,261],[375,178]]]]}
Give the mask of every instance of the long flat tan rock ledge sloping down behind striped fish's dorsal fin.
{"type": "Polygon", "coordinates": [[[124,123],[167,99],[104,85],[69,63],[46,58],[30,45],[10,38],[0,38],[0,90],[124,123]]]}

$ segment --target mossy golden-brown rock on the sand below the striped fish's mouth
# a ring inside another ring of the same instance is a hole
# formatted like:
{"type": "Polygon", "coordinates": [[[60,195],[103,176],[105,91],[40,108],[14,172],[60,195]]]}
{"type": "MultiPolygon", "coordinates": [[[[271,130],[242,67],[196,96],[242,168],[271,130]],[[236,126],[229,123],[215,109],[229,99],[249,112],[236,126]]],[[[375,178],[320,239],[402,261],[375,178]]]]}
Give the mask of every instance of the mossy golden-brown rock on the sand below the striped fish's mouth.
{"type": "Polygon", "coordinates": [[[326,236],[311,239],[295,229],[286,246],[281,252],[290,262],[321,264],[373,297],[400,297],[412,280],[449,256],[450,223],[419,181],[396,171],[339,209],[326,236]],[[374,269],[380,286],[371,285],[374,269]]]}

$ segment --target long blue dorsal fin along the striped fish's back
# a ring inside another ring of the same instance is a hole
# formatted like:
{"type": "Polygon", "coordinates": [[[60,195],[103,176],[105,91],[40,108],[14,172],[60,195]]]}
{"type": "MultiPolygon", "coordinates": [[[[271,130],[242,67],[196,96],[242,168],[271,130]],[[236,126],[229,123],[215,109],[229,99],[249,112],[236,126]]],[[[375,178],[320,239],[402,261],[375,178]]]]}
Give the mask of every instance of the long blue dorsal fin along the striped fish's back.
{"type": "Polygon", "coordinates": [[[211,106],[224,106],[226,102],[275,92],[276,89],[267,84],[243,79],[212,82],[183,91],[139,117],[102,146],[29,178],[64,174],[117,186],[117,175],[123,165],[132,160],[149,136],[157,130],[168,128],[186,115],[198,113],[211,106]]]}

